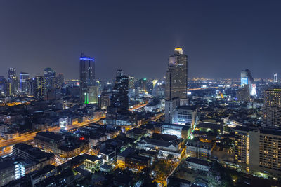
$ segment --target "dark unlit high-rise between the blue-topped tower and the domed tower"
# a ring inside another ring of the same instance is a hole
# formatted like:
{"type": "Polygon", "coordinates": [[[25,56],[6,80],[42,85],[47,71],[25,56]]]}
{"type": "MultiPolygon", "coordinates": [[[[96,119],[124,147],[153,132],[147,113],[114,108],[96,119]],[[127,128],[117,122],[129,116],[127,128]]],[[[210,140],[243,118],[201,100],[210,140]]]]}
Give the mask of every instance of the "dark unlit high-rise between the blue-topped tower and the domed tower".
{"type": "Polygon", "coordinates": [[[128,113],[129,109],[129,78],[121,69],[117,70],[115,85],[112,90],[110,106],[117,109],[117,113],[128,113]]]}

